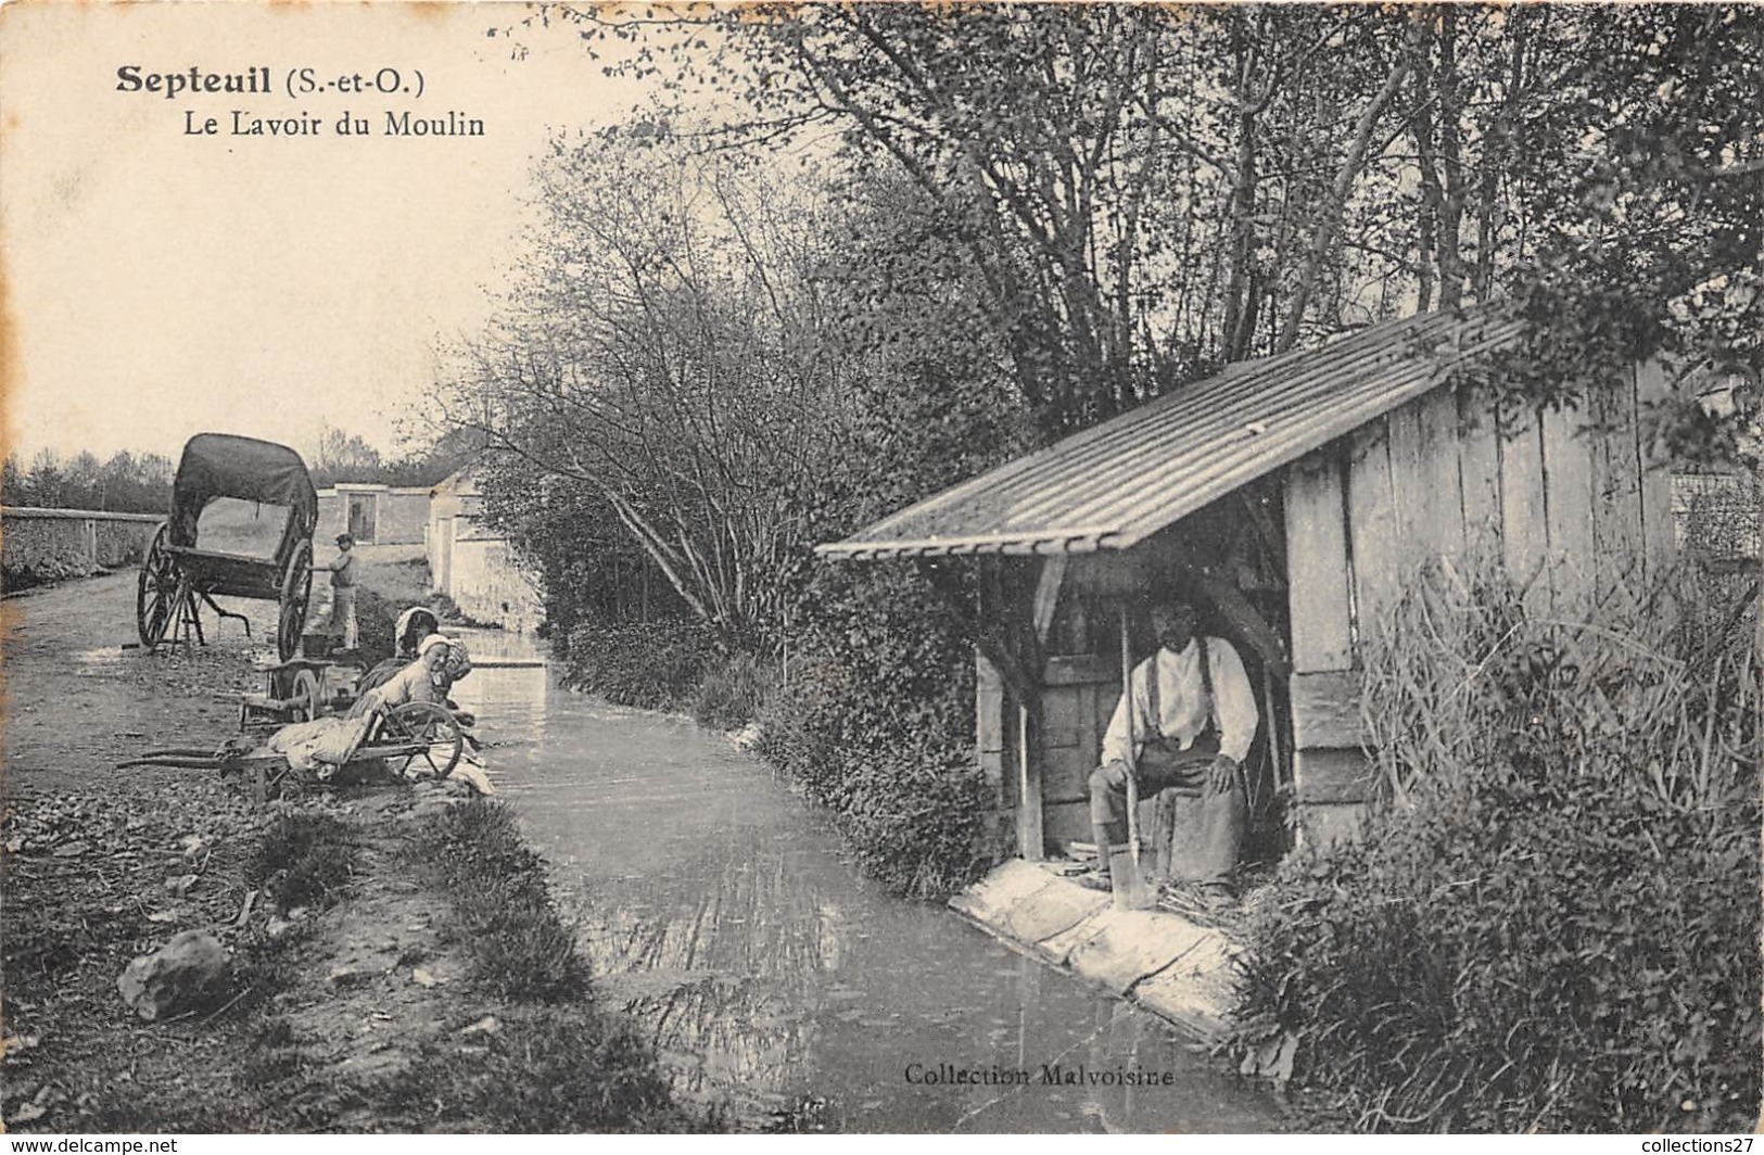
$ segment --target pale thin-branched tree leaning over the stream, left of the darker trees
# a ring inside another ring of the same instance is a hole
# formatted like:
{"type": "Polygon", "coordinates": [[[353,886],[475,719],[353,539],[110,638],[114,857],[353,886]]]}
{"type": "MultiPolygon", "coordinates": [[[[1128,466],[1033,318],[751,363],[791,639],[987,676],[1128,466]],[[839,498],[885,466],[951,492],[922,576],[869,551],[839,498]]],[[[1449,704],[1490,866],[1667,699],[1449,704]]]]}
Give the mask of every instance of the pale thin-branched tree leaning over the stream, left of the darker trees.
{"type": "Polygon", "coordinates": [[[691,615],[766,644],[843,397],[818,208],[663,122],[559,143],[536,180],[526,273],[446,420],[501,451],[492,508],[529,533],[596,510],[691,615]]]}

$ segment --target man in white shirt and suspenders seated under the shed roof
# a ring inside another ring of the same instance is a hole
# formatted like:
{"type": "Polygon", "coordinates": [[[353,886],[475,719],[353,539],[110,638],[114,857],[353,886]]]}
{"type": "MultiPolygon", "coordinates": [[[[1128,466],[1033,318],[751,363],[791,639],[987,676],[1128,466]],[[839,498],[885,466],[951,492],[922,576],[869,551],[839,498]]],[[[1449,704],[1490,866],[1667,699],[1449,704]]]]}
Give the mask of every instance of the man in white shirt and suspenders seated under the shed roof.
{"type": "MultiPolygon", "coordinates": [[[[1104,873],[1129,862],[1127,779],[1141,799],[1180,790],[1200,799],[1200,845],[1184,848],[1207,898],[1230,898],[1244,843],[1244,760],[1259,714],[1244,659],[1224,638],[1198,637],[1194,607],[1152,607],[1157,652],[1129,679],[1102,737],[1102,765],[1090,774],[1090,823],[1104,873]]],[[[1113,880],[1117,887],[1124,880],[1113,880]]]]}

